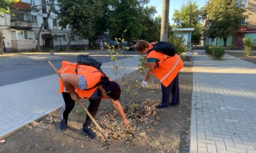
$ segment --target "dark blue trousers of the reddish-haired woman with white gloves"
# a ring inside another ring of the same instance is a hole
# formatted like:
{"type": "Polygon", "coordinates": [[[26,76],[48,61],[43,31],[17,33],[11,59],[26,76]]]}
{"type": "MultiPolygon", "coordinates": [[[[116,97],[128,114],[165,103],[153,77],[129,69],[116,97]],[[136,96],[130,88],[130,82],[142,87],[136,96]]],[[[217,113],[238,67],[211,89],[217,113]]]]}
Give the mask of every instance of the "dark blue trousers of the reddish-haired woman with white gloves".
{"type": "Polygon", "coordinates": [[[169,84],[165,87],[161,83],[162,88],[162,105],[179,105],[180,104],[180,88],[179,88],[179,74],[177,74],[169,84]]]}

